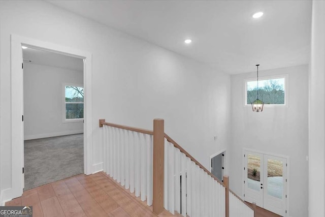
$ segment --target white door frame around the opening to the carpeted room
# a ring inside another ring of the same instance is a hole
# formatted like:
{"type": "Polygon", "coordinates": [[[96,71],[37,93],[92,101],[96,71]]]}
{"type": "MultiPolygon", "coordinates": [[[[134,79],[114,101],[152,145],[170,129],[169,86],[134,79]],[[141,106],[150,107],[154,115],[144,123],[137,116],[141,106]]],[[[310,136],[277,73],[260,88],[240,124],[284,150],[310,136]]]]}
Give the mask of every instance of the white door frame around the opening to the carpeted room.
{"type": "Polygon", "coordinates": [[[92,54],[75,48],[39,41],[18,35],[11,35],[11,189],[4,191],[4,199],[12,199],[22,195],[23,162],[23,74],[22,45],[48,50],[64,55],[84,59],[84,173],[91,174],[92,166],[92,54]]]}

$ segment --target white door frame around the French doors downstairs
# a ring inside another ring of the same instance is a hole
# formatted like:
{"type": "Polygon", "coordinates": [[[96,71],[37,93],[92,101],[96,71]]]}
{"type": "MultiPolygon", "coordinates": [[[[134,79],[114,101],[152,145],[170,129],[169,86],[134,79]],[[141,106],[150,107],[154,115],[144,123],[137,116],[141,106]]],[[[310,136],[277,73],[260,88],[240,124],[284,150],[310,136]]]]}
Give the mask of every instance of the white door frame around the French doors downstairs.
{"type": "Polygon", "coordinates": [[[245,167],[245,158],[244,158],[244,154],[245,154],[245,151],[252,151],[252,152],[257,152],[257,153],[262,153],[262,154],[267,154],[267,155],[271,155],[271,156],[275,156],[275,157],[279,157],[279,158],[285,158],[286,159],[286,179],[287,179],[287,182],[286,182],[286,216],[290,216],[290,207],[289,207],[289,200],[290,200],[290,193],[289,193],[289,185],[290,185],[290,157],[289,156],[285,156],[285,155],[282,155],[282,154],[276,154],[276,153],[272,153],[272,152],[269,152],[269,151],[261,151],[261,150],[255,150],[255,149],[250,149],[250,148],[243,148],[243,161],[242,161],[242,168],[243,168],[243,175],[242,175],[242,183],[243,183],[243,188],[242,188],[242,199],[245,200],[244,198],[244,193],[245,193],[245,184],[244,184],[244,180],[245,180],[245,173],[246,173],[246,170],[244,170],[244,167],[245,167]]]}

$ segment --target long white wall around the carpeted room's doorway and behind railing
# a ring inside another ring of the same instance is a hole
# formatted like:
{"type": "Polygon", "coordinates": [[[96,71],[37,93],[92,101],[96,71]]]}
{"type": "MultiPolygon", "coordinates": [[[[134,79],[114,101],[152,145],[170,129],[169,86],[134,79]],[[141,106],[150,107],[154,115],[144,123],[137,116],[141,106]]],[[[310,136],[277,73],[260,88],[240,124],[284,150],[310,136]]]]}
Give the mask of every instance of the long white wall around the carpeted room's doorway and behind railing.
{"type": "Polygon", "coordinates": [[[10,34],[92,53],[93,164],[103,161],[100,118],[145,129],[164,118],[166,133],[207,168],[228,144],[229,75],[47,2],[0,4],[1,189],[11,187],[10,34]]]}

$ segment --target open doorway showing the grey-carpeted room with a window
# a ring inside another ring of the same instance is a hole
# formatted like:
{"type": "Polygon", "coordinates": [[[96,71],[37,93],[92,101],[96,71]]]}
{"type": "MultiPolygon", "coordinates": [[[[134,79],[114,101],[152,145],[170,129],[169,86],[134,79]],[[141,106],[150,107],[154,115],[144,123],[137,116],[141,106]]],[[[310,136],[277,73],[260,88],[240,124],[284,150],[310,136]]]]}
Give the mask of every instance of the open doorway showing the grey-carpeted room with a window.
{"type": "Polygon", "coordinates": [[[84,172],[84,67],[82,58],[22,48],[25,191],[84,172]]]}

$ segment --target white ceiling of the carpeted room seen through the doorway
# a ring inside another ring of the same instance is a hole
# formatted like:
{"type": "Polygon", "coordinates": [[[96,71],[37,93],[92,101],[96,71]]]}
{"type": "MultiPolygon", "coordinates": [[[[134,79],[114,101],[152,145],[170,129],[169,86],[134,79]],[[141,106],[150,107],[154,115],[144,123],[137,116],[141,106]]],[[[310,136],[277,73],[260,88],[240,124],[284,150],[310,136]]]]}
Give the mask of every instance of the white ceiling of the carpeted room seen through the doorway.
{"type": "Polygon", "coordinates": [[[24,63],[46,65],[83,72],[83,59],[81,58],[34,48],[23,49],[23,58],[24,63]]]}

